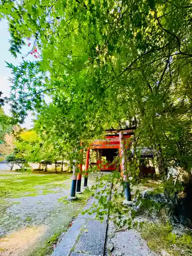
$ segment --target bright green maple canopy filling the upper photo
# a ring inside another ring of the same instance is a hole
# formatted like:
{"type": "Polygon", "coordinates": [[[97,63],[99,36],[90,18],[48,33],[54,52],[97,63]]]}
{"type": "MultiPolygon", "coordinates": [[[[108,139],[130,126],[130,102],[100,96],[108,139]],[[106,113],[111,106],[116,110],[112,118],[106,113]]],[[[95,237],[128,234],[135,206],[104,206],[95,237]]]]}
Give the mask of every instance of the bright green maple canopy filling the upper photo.
{"type": "Polygon", "coordinates": [[[191,168],[189,0],[2,1],[12,69],[12,112],[27,112],[73,151],[106,127],[137,122],[135,143],[153,146],[159,165],[191,168]],[[49,97],[51,100],[46,100],[49,97]]]}

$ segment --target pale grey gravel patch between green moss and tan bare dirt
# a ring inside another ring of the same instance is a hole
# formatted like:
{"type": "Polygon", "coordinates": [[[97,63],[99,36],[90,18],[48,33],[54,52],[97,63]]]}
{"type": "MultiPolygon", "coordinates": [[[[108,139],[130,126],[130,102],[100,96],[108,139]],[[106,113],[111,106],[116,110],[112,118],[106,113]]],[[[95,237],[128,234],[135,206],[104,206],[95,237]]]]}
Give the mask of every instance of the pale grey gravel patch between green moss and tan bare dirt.
{"type": "MultiPolygon", "coordinates": [[[[21,197],[5,200],[8,204],[1,215],[0,236],[30,225],[50,223],[52,216],[59,215],[63,203],[58,199],[68,196],[69,189],[58,188],[59,193],[21,197]],[[9,205],[11,205],[9,207],[9,205]]],[[[66,207],[65,207],[66,208],[66,207]]]]}

